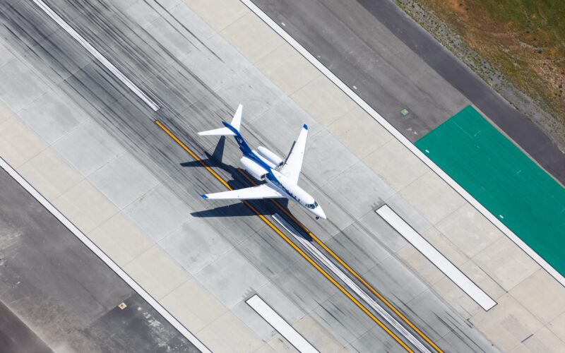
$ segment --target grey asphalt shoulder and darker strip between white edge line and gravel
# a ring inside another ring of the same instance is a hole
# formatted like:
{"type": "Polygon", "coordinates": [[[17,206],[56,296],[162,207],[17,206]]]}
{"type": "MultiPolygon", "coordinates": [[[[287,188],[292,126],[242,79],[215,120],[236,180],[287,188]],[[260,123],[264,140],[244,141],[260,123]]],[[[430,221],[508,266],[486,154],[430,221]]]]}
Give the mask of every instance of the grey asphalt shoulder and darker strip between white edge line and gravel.
{"type": "Polygon", "coordinates": [[[254,3],[277,23],[285,23],[295,40],[350,88],[355,86],[359,96],[410,140],[418,140],[472,102],[565,184],[564,152],[393,1],[254,3]],[[389,40],[391,35],[397,40],[389,40]],[[430,68],[443,82],[425,74],[430,68]],[[411,111],[408,116],[399,114],[403,107],[411,111]]]}

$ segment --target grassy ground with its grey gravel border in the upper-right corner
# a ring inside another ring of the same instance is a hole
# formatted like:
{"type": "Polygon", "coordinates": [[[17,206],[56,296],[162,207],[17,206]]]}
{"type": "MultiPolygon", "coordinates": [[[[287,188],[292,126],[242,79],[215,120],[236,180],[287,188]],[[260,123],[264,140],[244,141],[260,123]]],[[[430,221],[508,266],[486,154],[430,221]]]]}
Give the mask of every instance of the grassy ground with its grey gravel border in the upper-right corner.
{"type": "Polygon", "coordinates": [[[565,1],[396,1],[565,150],[565,1]]]}

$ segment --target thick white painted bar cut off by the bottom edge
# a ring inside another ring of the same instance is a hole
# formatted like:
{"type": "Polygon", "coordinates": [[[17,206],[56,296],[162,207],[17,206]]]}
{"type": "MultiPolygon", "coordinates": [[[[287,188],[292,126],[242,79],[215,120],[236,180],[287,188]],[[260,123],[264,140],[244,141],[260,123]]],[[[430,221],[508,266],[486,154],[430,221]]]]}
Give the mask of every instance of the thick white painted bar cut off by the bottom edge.
{"type": "Polygon", "coordinates": [[[273,310],[261,297],[255,294],[245,301],[256,313],[265,319],[280,335],[298,349],[299,352],[319,353],[302,335],[298,333],[289,323],[273,310]]]}

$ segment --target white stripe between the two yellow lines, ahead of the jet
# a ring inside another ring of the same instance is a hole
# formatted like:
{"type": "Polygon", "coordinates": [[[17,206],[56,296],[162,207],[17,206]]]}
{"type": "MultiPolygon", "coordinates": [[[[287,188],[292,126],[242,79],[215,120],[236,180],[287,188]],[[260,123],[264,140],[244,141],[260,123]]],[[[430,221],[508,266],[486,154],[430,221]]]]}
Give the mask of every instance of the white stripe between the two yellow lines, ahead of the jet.
{"type": "Polygon", "coordinates": [[[297,239],[297,241],[299,241],[299,243],[302,244],[302,246],[304,246],[304,248],[306,248],[307,251],[311,253],[312,256],[314,256],[314,258],[318,259],[318,261],[325,265],[326,268],[328,268],[333,273],[333,275],[342,280],[347,287],[355,292],[355,294],[357,294],[365,303],[369,304],[369,306],[371,306],[374,311],[379,313],[379,315],[384,318],[384,320],[389,325],[395,328],[400,333],[400,335],[403,335],[403,337],[405,337],[408,342],[412,343],[412,345],[414,345],[420,352],[431,353],[429,349],[427,349],[427,347],[423,345],[422,342],[420,342],[420,340],[418,340],[403,325],[396,321],[396,319],[393,318],[391,314],[388,313],[388,311],[383,309],[383,307],[380,306],[379,303],[377,303],[369,294],[364,292],[364,290],[361,289],[361,287],[359,287],[355,282],[353,282],[350,277],[345,275],[345,273],[343,273],[343,271],[340,270],[338,266],[334,265],[333,262],[330,261],[330,259],[324,256],[323,253],[321,253],[316,248],[316,246],[314,246],[314,244],[301,237],[297,230],[292,227],[292,225],[289,225],[288,222],[283,219],[283,217],[280,217],[280,215],[275,213],[275,215],[273,215],[273,218],[278,222],[278,224],[285,228],[288,233],[292,234],[292,237],[295,237],[295,239],[297,239]]]}

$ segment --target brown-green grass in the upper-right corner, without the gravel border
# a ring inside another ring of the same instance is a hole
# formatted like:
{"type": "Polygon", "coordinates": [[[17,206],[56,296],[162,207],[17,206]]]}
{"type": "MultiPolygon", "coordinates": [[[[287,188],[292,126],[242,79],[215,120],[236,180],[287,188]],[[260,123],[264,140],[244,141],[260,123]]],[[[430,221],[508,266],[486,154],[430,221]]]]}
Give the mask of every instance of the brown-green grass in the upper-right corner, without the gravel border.
{"type": "Polygon", "coordinates": [[[565,126],[565,1],[415,1],[565,126]]]}

